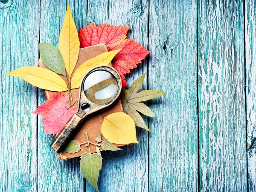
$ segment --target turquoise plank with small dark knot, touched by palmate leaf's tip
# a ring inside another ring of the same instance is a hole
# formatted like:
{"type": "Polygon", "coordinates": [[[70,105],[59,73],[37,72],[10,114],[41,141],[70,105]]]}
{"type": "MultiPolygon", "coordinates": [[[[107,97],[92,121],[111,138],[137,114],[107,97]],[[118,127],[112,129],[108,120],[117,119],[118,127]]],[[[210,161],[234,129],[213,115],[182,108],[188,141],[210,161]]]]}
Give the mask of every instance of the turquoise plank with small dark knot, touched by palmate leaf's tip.
{"type": "Polygon", "coordinates": [[[150,1],[148,87],[167,91],[151,101],[150,191],[198,190],[196,4],[150,1]]]}

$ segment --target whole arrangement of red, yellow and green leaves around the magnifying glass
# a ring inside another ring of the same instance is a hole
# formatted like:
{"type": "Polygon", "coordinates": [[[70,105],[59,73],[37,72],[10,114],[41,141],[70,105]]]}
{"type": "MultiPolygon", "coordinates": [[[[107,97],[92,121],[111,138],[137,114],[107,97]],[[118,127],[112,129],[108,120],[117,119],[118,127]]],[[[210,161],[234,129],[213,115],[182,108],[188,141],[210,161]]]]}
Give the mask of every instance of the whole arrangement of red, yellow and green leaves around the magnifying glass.
{"type": "MultiPolygon", "coordinates": [[[[68,6],[58,47],[49,43],[41,43],[39,45],[41,58],[49,69],[26,66],[6,73],[7,75],[21,77],[41,89],[56,92],[46,103],[38,106],[38,109],[35,111],[36,114],[43,116],[43,126],[47,134],[55,135],[57,132],[60,132],[70,117],[76,112],[76,108],[67,109],[67,103],[72,99],[70,89],[79,88],[82,77],[91,68],[99,65],[108,65],[112,61],[112,66],[122,77],[122,85],[127,85],[124,75],[130,73],[130,69],[137,67],[137,64],[141,63],[141,60],[149,54],[141,44],[127,39],[126,34],[129,28],[107,24],[96,26],[95,23],[92,23],[85,26],[78,33],[70,6],[68,6]],[[79,49],[100,43],[105,43],[110,52],[87,60],[73,72],[78,60],[79,49]],[[73,74],[72,78],[71,74],[73,74]],[[70,92],[70,97],[61,93],[66,91],[70,92]]],[[[164,93],[158,90],[145,90],[137,93],[142,86],[144,78],[145,74],[132,83],[129,89],[122,88],[120,97],[125,113],[113,113],[104,117],[107,121],[103,121],[101,129],[102,134],[107,140],[102,142],[102,149],[105,147],[105,150],[119,150],[112,143],[138,143],[135,124],[149,130],[138,112],[150,117],[154,117],[154,113],[145,104],[140,102],[159,97],[164,93]],[[119,124],[114,123],[116,119],[119,119],[117,121],[119,124]],[[113,131],[110,132],[109,130],[113,131]]],[[[98,140],[97,143],[101,142],[101,139],[98,138],[98,140]]],[[[71,144],[74,146],[76,143],[71,144]]],[[[81,156],[80,165],[84,177],[98,190],[97,180],[102,165],[100,152],[97,154],[84,153],[81,156]],[[96,157],[95,155],[98,156],[96,157]],[[93,156],[95,157],[93,158],[93,156]]]]}

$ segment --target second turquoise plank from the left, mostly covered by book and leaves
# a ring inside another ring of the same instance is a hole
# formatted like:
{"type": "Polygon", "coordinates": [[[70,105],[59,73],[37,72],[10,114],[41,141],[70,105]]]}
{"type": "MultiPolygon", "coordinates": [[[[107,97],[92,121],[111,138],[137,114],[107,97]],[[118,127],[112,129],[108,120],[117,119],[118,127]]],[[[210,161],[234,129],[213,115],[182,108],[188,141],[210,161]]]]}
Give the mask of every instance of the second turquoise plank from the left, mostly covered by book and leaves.
{"type": "MultiPolygon", "coordinates": [[[[79,29],[86,23],[87,3],[83,0],[70,0],[70,9],[79,29]]],[[[41,0],[40,42],[58,46],[66,1],[41,0]]],[[[39,91],[38,104],[45,102],[44,91],[39,91]]],[[[84,178],[80,173],[79,158],[60,160],[49,148],[52,135],[44,135],[41,118],[38,119],[38,191],[84,191],[84,178]]]]}

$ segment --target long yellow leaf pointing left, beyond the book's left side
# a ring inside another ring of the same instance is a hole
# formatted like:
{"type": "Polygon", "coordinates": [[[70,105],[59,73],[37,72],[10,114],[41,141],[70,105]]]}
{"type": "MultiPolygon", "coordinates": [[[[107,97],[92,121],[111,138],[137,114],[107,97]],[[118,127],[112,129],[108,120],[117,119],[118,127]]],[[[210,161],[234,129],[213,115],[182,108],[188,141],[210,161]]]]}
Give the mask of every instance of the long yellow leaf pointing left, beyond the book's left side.
{"type": "Polygon", "coordinates": [[[5,73],[14,77],[21,77],[33,86],[55,92],[67,91],[66,82],[55,72],[41,67],[21,67],[5,73]]]}

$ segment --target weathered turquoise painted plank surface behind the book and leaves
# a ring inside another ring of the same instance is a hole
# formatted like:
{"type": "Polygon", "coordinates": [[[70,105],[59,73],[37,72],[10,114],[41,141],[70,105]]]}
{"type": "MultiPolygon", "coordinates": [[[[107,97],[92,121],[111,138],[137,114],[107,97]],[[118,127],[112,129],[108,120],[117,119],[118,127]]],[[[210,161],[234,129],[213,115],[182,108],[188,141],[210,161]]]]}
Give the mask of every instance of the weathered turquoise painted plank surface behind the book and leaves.
{"type": "Polygon", "coordinates": [[[102,153],[101,192],[256,191],[255,0],[0,0],[0,191],[95,192],[30,113],[44,92],[3,75],[58,44],[67,3],[78,30],[131,25],[151,54],[128,85],[148,72],[142,89],[167,91],[139,144],[102,153]]]}

